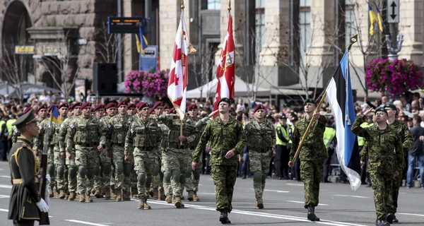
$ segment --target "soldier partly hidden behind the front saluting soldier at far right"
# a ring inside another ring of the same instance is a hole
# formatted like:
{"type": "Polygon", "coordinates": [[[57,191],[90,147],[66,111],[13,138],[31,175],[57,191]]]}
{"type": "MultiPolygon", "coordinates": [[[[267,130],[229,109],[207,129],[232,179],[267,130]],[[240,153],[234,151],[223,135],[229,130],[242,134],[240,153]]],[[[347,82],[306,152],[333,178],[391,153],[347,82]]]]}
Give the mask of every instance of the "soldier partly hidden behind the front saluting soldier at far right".
{"type": "MultiPolygon", "coordinates": [[[[396,119],[397,109],[395,105],[387,103],[386,105],[384,105],[384,109],[387,110],[388,114],[387,124],[389,124],[389,126],[391,126],[399,134],[404,156],[406,156],[408,155],[408,150],[409,148],[411,148],[411,145],[413,143],[411,131],[408,129],[408,126],[404,123],[404,121],[396,119]]],[[[404,158],[401,159],[399,165],[405,166],[404,158]]],[[[389,222],[390,224],[392,222],[399,222],[399,220],[394,214],[396,213],[398,207],[399,187],[402,184],[402,175],[404,172],[404,167],[396,169],[396,171],[398,171],[400,175],[399,177],[395,177],[393,179],[393,184],[391,186],[391,196],[389,199],[389,203],[387,203],[387,211],[389,211],[387,215],[387,222],[389,222]]]]}

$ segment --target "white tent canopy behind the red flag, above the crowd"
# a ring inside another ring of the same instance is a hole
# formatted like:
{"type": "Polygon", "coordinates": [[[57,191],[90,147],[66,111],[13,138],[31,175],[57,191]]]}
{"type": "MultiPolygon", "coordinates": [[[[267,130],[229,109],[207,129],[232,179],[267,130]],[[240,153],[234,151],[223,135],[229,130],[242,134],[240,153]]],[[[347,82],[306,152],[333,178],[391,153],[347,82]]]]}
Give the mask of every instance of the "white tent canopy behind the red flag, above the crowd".
{"type": "MultiPolygon", "coordinates": [[[[214,97],[216,93],[216,85],[218,84],[218,79],[213,79],[202,85],[201,87],[195,88],[193,90],[187,91],[187,98],[199,98],[199,97],[214,97]],[[202,90],[202,93],[201,93],[202,90]],[[201,93],[201,96],[200,96],[201,93]]],[[[257,97],[269,97],[271,95],[271,90],[266,88],[256,88],[252,84],[247,84],[242,79],[235,77],[235,97],[247,97],[252,91],[257,90],[257,97]],[[248,89],[249,88],[249,89],[248,89]]]]}

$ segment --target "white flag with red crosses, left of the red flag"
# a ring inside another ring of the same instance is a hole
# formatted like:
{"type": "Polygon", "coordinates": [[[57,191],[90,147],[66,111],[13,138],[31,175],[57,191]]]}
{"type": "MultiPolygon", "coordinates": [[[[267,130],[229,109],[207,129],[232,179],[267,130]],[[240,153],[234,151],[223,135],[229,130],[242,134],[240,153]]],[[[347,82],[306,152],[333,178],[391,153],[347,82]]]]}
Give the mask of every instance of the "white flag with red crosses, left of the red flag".
{"type": "Polygon", "coordinates": [[[186,109],[187,93],[187,55],[196,52],[189,41],[189,33],[184,22],[184,11],[181,12],[181,18],[175,35],[174,53],[172,54],[171,70],[168,81],[167,96],[172,105],[183,119],[186,109]]]}

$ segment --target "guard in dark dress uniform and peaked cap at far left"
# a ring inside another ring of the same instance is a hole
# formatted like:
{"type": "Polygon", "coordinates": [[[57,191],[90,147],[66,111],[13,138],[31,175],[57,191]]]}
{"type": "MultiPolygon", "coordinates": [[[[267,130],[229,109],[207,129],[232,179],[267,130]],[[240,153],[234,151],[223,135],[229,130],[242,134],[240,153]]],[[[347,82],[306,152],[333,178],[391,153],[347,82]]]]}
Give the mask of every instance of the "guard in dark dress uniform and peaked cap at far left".
{"type": "Polygon", "coordinates": [[[20,131],[20,137],[12,146],[9,157],[13,186],[8,219],[13,220],[13,225],[34,225],[35,220],[40,220],[40,211],[47,213],[49,206],[41,198],[45,194],[38,191],[40,167],[32,149],[33,138],[38,136],[38,126],[33,109],[19,117],[13,126],[20,131]]]}

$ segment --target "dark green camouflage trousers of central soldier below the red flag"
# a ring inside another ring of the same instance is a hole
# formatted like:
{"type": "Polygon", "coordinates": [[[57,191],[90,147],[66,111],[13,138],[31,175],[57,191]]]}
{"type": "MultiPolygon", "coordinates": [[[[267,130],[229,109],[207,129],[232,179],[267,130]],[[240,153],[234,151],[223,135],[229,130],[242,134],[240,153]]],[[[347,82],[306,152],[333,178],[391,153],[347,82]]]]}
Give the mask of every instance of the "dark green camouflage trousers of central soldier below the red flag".
{"type": "Polygon", "coordinates": [[[232,193],[237,178],[237,165],[212,165],[212,180],[215,184],[216,210],[232,210],[232,193]]]}

